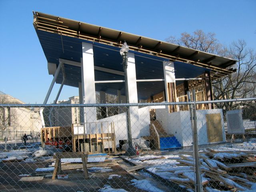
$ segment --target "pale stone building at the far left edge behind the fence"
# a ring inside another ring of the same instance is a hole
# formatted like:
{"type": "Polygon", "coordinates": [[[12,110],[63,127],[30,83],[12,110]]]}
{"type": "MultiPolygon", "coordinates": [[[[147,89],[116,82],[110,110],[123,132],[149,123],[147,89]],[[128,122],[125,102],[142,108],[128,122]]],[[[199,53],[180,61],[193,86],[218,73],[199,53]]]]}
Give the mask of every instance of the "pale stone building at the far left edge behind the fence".
{"type": "MultiPolygon", "coordinates": [[[[25,104],[21,100],[14,98],[0,91],[1,104],[25,104]]],[[[42,122],[38,111],[30,108],[0,108],[0,132],[14,136],[14,132],[26,132],[32,134],[39,132],[42,122]],[[5,132],[7,131],[7,133],[5,132]]],[[[10,136],[9,136],[10,137],[10,136]]]]}

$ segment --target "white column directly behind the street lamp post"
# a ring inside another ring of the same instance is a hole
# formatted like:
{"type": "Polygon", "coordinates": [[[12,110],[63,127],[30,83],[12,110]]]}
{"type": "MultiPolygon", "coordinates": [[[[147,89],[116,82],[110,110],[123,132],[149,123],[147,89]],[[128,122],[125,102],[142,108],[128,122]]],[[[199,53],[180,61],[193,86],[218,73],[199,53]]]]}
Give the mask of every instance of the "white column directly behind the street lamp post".
{"type": "MultiPolygon", "coordinates": [[[[128,58],[127,78],[128,78],[129,102],[138,103],[134,53],[128,52],[127,58],[128,58]]],[[[140,120],[139,120],[138,107],[130,107],[130,118],[131,118],[132,138],[137,138],[140,134],[140,127],[141,127],[140,120]]]]}

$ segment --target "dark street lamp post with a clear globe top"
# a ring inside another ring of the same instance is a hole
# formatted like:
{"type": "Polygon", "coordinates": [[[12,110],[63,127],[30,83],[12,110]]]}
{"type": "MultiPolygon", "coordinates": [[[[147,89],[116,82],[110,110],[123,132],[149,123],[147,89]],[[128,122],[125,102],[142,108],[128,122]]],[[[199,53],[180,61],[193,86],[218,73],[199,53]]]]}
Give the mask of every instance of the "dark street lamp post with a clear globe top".
{"type": "MultiPolygon", "coordinates": [[[[129,51],[129,47],[126,44],[126,42],[124,42],[122,48],[120,49],[120,54],[123,58],[126,103],[129,103],[128,78],[127,78],[127,67],[128,67],[127,54],[128,54],[128,51],[129,51]]],[[[126,156],[135,156],[136,150],[132,146],[130,106],[127,106],[127,110],[126,110],[126,125],[127,125],[127,134],[128,134],[128,149],[126,150],[125,154],[126,154],[126,156]]]]}

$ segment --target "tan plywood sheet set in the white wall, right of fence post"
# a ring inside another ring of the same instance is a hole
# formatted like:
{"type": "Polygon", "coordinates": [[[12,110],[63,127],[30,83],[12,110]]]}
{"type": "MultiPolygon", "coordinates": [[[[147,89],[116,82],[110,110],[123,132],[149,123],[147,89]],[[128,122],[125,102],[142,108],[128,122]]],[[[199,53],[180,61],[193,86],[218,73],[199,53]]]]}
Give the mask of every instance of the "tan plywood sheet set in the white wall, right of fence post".
{"type": "Polygon", "coordinates": [[[223,141],[220,113],[206,114],[205,117],[208,142],[223,141]]]}

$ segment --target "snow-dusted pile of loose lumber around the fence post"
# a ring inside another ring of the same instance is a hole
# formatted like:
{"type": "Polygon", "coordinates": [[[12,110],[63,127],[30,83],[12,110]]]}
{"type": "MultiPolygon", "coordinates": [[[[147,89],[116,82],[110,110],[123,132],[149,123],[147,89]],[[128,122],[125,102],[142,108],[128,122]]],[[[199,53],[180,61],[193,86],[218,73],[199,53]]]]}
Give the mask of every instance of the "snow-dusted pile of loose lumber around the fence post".
{"type": "MultiPolygon", "coordinates": [[[[178,167],[172,170],[170,181],[194,190],[194,159],[193,156],[179,155],[178,167]]],[[[205,191],[256,190],[256,158],[250,152],[209,150],[200,153],[200,170],[202,185],[205,191]]],[[[166,170],[165,170],[166,171],[166,170]]]]}

